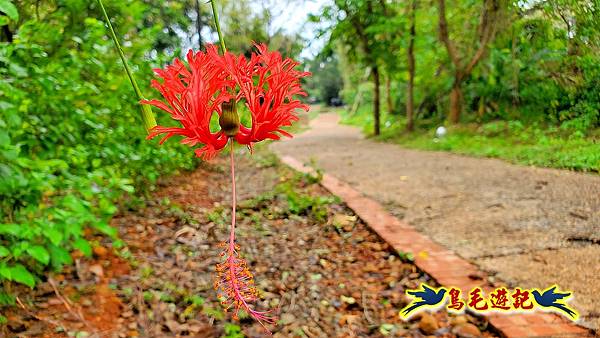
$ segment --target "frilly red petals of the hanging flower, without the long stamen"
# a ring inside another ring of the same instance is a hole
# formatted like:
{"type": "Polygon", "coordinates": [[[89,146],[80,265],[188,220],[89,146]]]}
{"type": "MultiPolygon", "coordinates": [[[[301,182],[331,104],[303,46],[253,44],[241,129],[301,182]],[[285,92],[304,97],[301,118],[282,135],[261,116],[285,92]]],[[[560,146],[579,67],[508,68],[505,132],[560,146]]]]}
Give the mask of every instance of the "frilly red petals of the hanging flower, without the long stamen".
{"type": "Polygon", "coordinates": [[[153,80],[152,86],[166,103],[159,100],[142,103],[164,110],[181,126],[156,126],[148,138],[165,134],[162,144],[171,136],[183,136],[182,143],[201,145],[196,155],[209,160],[225,147],[229,137],[249,147],[264,139],[279,139],[279,134],[291,137],[281,128],[298,119],[296,109],[308,110],[294,96],[306,95],[300,79],[309,73],[295,70],[297,62],[283,59],[278,52],[269,52],[266,45],[256,48],[258,53],[248,60],[232,53],[219,55],[215,46],[208,45],[206,52],[188,52],[188,66],[175,59],[165,69],[155,69],[162,82],[153,80]],[[215,113],[222,115],[223,103],[230,100],[237,103],[243,100],[252,116],[251,125],[239,125],[235,135],[226,135],[223,130],[211,132],[211,117],[215,113]]]}

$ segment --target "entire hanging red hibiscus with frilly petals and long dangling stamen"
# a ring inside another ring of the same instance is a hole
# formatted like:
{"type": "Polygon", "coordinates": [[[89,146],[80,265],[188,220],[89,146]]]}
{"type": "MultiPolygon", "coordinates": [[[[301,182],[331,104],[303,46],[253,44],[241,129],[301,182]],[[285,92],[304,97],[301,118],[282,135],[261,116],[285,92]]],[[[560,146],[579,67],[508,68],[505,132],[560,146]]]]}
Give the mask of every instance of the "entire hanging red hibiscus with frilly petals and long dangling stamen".
{"type": "MultiPolygon", "coordinates": [[[[224,47],[224,46],[223,46],[224,47]]],[[[169,113],[179,121],[176,127],[154,127],[149,139],[165,134],[162,144],[171,136],[183,136],[181,141],[189,146],[200,145],[196,156],[213,158],[230,142],[232,218],[229,240],[223,243],[223,261],[217,264],[215,289],[225,310],[234,317],[243,310],[256,319],[267,332],[267,324],[274,324],[271,311],[254,310],[250,303],[256,301],[259,292],[246,261],[239,254],[235,238],[235,169],[233,142],[252,148],[265,139],[279,139],[280,135],[291,137],[282,127],[298,119],[297,109],[308,106],[295,99],[306,95],[300,87],[300,79],[308,73],[295,68],[298,63],[278,52],[269,52],[265,45],[256,46],[257,53],[250,59],[231,53],[219,55],[216,47],[207,46],[206,52],[189,51],[186,66],[178,59],[165,69],[155,69],[162,82],[152,81],[152,86],[164,100],[143,100],[169,113]],[[250,125],[240,123],[237,107],[241,104],[250,111],[250,125]],[[211,118],[219,115],[219,131],[211,131],[211,118]]]]}

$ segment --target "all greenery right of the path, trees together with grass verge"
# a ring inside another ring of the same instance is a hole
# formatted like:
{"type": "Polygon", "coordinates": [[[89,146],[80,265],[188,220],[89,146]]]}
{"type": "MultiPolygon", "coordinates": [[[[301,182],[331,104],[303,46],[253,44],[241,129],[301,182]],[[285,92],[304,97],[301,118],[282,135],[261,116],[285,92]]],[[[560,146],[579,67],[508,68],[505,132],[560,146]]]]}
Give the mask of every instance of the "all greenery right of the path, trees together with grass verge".
{"type": "Polygon", "coordinates": [[[311,94],[341,99],[344,121],[367,135],[599,170],[596,2],[337,0],[323,16],[313,18],[329,40],[310,64],[311,94]]]}

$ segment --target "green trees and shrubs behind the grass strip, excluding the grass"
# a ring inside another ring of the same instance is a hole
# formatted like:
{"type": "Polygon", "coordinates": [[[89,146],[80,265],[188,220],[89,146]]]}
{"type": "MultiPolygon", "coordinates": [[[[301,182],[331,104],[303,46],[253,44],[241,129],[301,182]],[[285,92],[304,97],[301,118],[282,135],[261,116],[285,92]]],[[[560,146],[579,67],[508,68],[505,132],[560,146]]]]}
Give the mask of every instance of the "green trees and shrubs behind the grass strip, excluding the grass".
{"type": "Polygon", "coordinates": [[[373,113],[377,105],[357,108],[377,100],[374,83],[384,92],[383,111],[406,114],[413,6],[417,127],[503,120],[594,137],[600,7],[589,0],[336,0],[323,11],[323,53],[340,60],[350,114],[373,113]],[[376,79],[375,70],[389,82],[376,79]]]}

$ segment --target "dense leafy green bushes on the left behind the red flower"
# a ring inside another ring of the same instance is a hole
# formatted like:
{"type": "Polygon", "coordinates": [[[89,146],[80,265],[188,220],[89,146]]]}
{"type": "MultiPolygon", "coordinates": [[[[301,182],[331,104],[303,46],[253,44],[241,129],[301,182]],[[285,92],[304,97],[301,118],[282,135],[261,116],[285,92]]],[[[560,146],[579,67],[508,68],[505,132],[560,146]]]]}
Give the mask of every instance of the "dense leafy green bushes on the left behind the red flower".
{"type": "MultiPolygon", "coordinates": [[[[153,21],[160,12],[140,1],[107,9],[150,94],[145,56],[175,50],[156,38],[166,16],[153,21]]],[[[35,274],[71,263],[72,250],[91,253],[86,232],[116,239],[108,221],[124,195],[150,191],[160,175],[192,168],[194,159],[183,146],[145,140],[95,2],[20,2],[15,10],[0,43],[0,280],[33,287],[35,274]]],[[[160,11],[169,10],[181,8],[173,2],[160,11]]]]}

